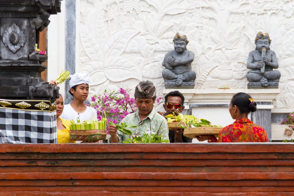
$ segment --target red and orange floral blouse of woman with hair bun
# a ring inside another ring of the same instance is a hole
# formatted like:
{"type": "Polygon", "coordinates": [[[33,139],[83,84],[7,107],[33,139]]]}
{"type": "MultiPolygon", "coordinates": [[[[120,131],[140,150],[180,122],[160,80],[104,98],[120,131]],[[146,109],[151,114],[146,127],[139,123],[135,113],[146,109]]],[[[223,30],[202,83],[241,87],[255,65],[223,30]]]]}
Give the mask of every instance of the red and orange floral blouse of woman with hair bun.
{"type": "Polygon", "coordinates": [[[212,142],[268,142],[264,128],[255,125],[247,118],[235,120],[220,130],[218,140],[210,138],[212,142]]]}

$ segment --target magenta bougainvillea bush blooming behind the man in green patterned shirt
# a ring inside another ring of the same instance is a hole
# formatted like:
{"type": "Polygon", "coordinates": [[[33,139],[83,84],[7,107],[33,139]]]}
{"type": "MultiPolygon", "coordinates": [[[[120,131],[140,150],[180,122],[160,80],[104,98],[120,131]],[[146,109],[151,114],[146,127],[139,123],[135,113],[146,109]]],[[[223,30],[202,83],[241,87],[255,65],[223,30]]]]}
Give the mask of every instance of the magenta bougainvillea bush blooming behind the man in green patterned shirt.
{"type": "Polygon", "coordinates": [[[91,101],[88,105],[97,110],[98,120],[105,117],[107,123],[110,120],[115,124],[119,123],[126,115],[138,109],[135,98],[130,97],[130,94],[123,88],[110,93],[104,90],[103,94],[91,97],[91,101]]]}

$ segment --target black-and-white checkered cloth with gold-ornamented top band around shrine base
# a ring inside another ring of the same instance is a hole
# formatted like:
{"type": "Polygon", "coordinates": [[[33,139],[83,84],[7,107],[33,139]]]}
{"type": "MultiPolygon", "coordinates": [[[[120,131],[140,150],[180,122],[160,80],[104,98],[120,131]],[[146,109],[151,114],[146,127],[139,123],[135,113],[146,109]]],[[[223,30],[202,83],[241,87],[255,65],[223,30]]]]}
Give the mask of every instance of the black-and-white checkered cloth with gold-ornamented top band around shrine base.
{"type": "Polygon", "coordinates": [[[56,107],[46,100],[0,100],[0,143],[57,143],[56,107]]]}

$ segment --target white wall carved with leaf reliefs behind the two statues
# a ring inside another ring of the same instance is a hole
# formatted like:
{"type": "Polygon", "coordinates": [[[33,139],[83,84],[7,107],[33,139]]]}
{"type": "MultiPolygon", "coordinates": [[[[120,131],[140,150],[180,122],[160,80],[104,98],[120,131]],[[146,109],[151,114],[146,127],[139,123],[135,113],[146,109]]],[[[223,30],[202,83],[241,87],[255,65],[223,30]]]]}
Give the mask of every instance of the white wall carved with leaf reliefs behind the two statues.
{"type": "Polygon", "coordinates": [[[79,71],[90,74],[90,92],[142,80],[164,88],[164,55],[176,32],[195,53],[195,88],[247,88],[246,62],[258,31],[268,32],[279,71],[275,108],[294,108],[293,0],[80,0],[79,71]]]}

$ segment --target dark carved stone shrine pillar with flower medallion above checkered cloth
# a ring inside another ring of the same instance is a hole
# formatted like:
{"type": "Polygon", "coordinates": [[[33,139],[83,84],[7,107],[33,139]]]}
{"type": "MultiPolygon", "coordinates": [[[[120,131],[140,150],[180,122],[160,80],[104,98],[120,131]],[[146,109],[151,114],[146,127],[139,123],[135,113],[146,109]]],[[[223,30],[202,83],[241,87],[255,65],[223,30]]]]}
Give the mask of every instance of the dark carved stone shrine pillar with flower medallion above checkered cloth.
{"type": "Polygon", "coordinates": [[[59,87],[44,82],[46,55],[35,51],[38,34],[60,12],[60,0],[0,1],[0,98],[54,102],[59,87]]]}

